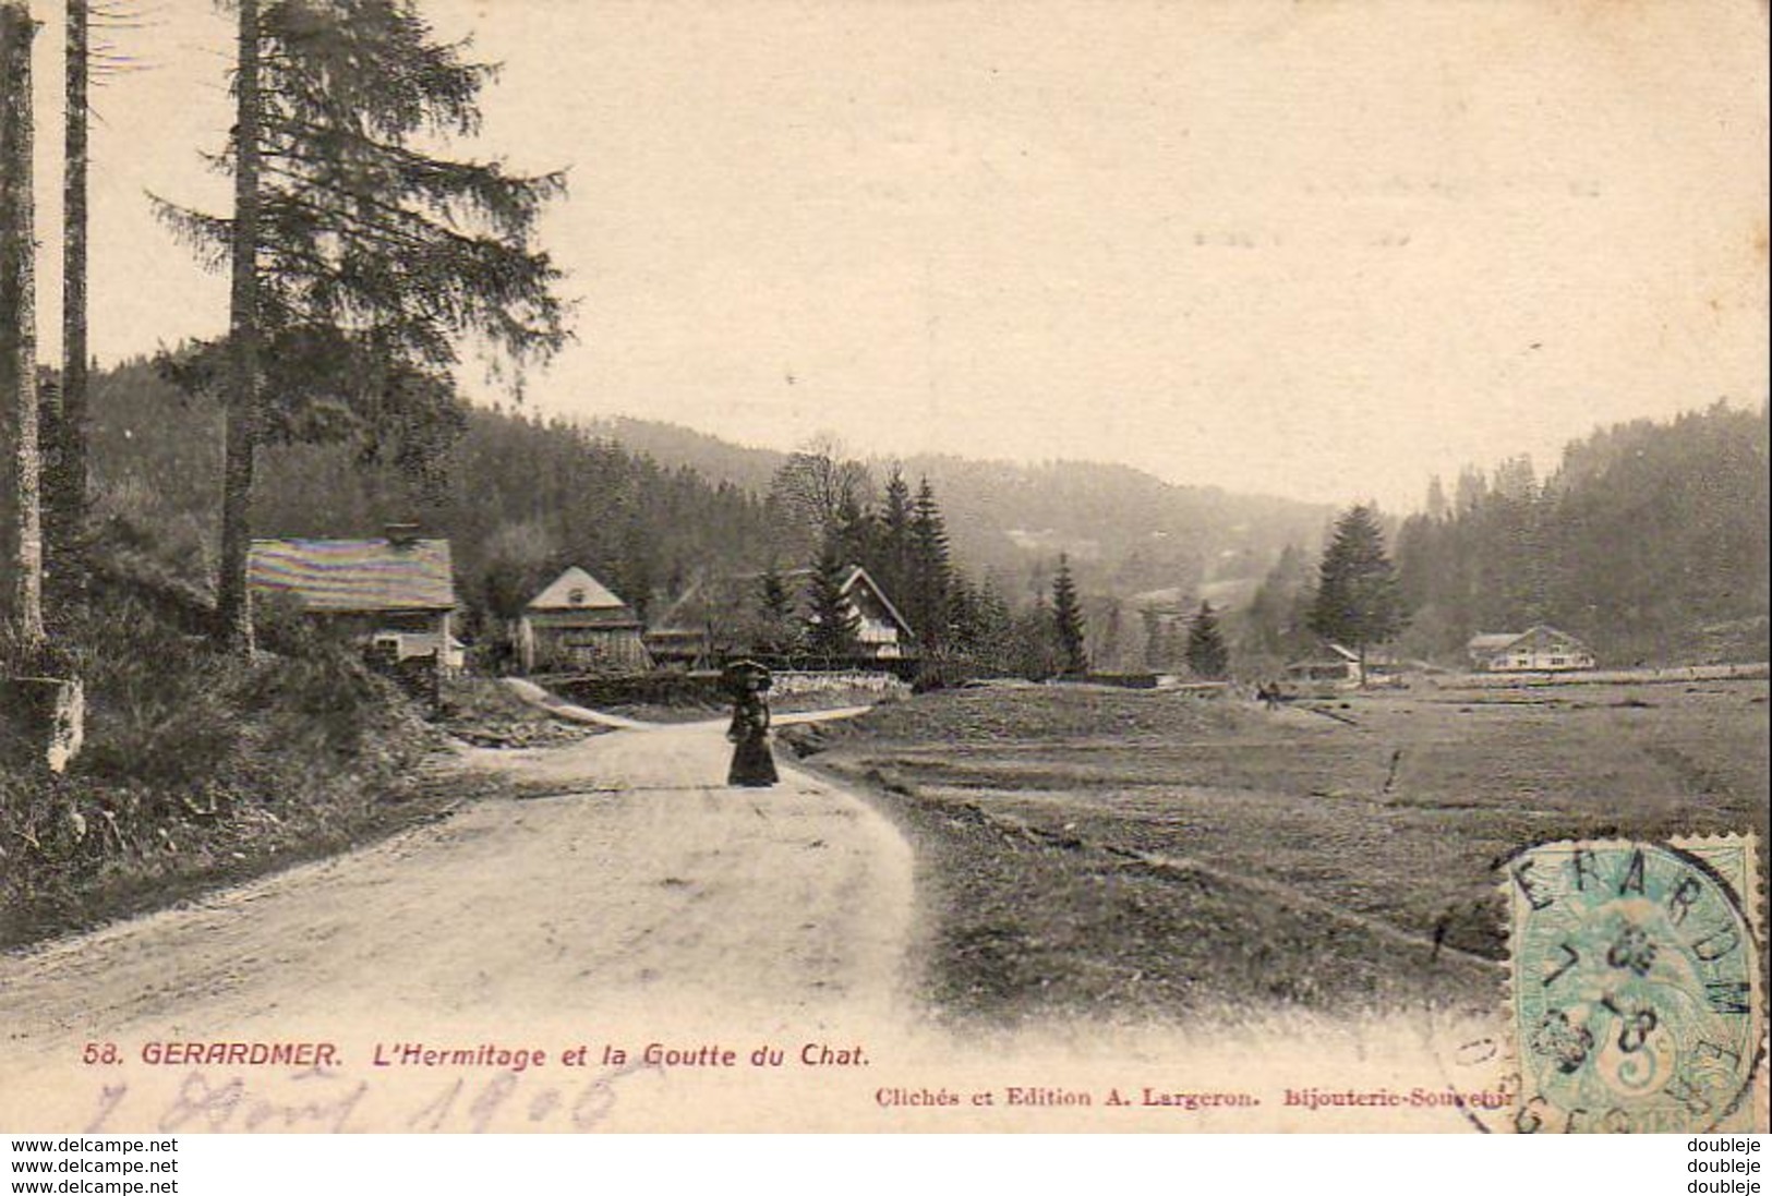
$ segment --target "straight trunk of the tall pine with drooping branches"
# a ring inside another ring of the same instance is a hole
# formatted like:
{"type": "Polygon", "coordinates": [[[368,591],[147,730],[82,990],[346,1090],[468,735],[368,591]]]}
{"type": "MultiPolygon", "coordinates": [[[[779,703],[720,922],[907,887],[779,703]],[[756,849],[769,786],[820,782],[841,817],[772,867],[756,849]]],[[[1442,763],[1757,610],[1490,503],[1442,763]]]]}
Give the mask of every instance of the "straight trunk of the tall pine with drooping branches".
{"type": "Polygon", "coordinates": [[[239,0],[234,90],[234,264],[216,634],[225,645],[250,656],[253,645],[246,555],[252,548],[252,473],[259,447],[259,0],[239,0]]]}

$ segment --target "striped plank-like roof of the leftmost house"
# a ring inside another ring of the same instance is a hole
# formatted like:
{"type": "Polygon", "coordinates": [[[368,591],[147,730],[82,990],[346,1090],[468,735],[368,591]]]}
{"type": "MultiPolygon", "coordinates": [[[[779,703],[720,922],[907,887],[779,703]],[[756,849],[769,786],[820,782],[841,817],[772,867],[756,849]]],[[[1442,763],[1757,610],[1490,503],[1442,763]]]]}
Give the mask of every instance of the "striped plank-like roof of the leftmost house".
{"type": "Polygon", "coordinates": [[[292,594],[310,611],[447,611],[455,606],[448,540],[253,540],[253,590],[292,594]]]}

